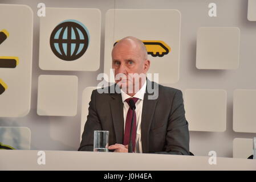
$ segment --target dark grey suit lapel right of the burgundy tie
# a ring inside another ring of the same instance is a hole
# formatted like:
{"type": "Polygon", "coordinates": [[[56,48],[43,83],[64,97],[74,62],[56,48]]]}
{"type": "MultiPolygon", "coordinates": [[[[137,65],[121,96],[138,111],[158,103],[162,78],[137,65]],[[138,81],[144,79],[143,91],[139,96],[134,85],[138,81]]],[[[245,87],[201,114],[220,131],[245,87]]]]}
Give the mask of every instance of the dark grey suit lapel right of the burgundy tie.
{"type": "MultiPolygon", "coordinates": [[[[146,93],[144,94],[143,109],[141,114],[141,143],[143,153],[149,152],[149,129],[151,127],[153,115],[155,113],[155,108],[157,104],[157,98],[153,100],[148,99],[148,96],[150,95],[148,93],[148,85],[152,85],[152,82],[147,79],[147,89],[146,93]]],[[[152,85],[151,88],[154,88],[153,86],[154,85],[152,85]]]]}

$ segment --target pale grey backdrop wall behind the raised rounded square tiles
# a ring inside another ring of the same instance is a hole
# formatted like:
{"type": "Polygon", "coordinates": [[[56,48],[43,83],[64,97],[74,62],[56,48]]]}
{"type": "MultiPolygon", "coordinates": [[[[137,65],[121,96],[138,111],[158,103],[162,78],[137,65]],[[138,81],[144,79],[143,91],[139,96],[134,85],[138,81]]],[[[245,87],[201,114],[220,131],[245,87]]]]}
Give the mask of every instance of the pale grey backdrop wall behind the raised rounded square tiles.
{"type": "MultiPolygon", "coordinates": [[[[82,92],[87,86],[96,86],[96,76],[103,72],[105,13],[108,9],[178,9],[181,12],[180,80],[169,84],[185,89],[223,89],[227,91],[227,126],[222,133],[190,131],[190,151],[195,155],[232,157],[234,138],[253,138],[253,133],[233,131],[234,89],[256,89],[256,22],[247,20],[245,0],[2,0],[1,3],[29,5],[34,11],[34,40],[32,63],[31,110],[23,118],[0,118],[0,126],[25,126],[31,129],[31,150],[77,150],[80,141],[82,92]],[[39,18],[38,3],[47,7],[84,7],[101,10],[100,69],[96,72],[42,71],[38,67],[39,18]],[[208,5],[217,4],[217,17],[208,16],[208,5]],[[241,30],[240,64],[237,70],[200,70],[196,68],[196,39],[199,27],[239,27],[241,30]],[[75,117],[43,117],[36,114],[39,75],[78,76],[78,114],[75,117]]],[[[160,22],[159,22],[160,23],[160,22]]],[[[156,24],[157,26],[157,24],[156,24]]],[[[188,121],[189,122],[189,121],[188,121]]]]}

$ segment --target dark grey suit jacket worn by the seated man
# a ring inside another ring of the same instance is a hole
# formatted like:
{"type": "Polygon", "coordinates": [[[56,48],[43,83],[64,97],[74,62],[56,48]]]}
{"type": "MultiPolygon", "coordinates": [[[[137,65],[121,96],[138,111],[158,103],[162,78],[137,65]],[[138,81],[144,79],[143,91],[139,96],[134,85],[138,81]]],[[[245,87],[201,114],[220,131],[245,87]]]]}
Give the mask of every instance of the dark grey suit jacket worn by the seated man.
{"type": "MultiPolygon", "coordinates": [[[[107,88],[109,92],[113,90],[112,86],[107,88]]],[[[109,145],[123,143],[124,115],[121,94],[109,92],[92,91],[79,151],[93,150],[94,130],[109,131],[109,145]]],[[[188,122],[181,90],[147,79],[141,115],[141,143],[143,153],[189,155],[188,122]],[[153,96],[153,93],[149,92],[148,86],[158,89],[159,96],[149,99],[148,96],[153,96]]]]}

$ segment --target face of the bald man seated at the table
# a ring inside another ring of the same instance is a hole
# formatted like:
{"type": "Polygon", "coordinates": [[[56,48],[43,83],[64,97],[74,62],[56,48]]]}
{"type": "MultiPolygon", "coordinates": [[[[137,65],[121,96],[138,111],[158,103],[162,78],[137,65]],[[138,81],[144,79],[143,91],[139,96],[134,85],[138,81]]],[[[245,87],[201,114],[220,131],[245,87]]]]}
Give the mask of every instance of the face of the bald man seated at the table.
{"type": "MultiPolygon", "coordinates": [[[[145,73],[148,71],[148,60],[145,60],[145,56],[141,48],[135,43],[130,41],[120,42],[116,44],[112,51],[112,68],[115,71],[116,83],[121,88],[124,85],[138,84],[135,78],[131,77],[131,74],[145,73]]],[[[134,76],[134,75],[133,75],[134,76]]]]}

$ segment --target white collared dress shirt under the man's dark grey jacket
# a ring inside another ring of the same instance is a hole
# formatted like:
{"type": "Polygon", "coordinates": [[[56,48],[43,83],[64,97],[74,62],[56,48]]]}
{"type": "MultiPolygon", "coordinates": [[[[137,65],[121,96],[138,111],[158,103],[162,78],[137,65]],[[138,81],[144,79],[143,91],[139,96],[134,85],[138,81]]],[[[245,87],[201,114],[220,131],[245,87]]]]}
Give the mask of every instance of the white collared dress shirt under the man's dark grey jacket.
{"type": "MultiPolygon", "coordinates": [[[[136,98],[139,98],[139,100],[137,100],[135,106],[135,113],[136,113],[136,144],[135,144],[135,152],[136,153],[142,153],[142,144],[141,144],[141,113],[142,113],[142,107],[143,107],[143,99],[144,99],[144,94],[147,88],[147,81],[144,82],[143,86],[141,87],[141,89],[133,96],[136,98]]],[[[122,96],[122,101],[124,104],[124,131],[125,131],[125,121],[126,121],[126,117],[127,117],[127,113],[129,110],[129,105],[128,103],[125,101],[127,98],[130,98],[131,96],[129,96],[127,93],[123,92],[123,90],[121,90],[121,96],[122,96]]]]}

